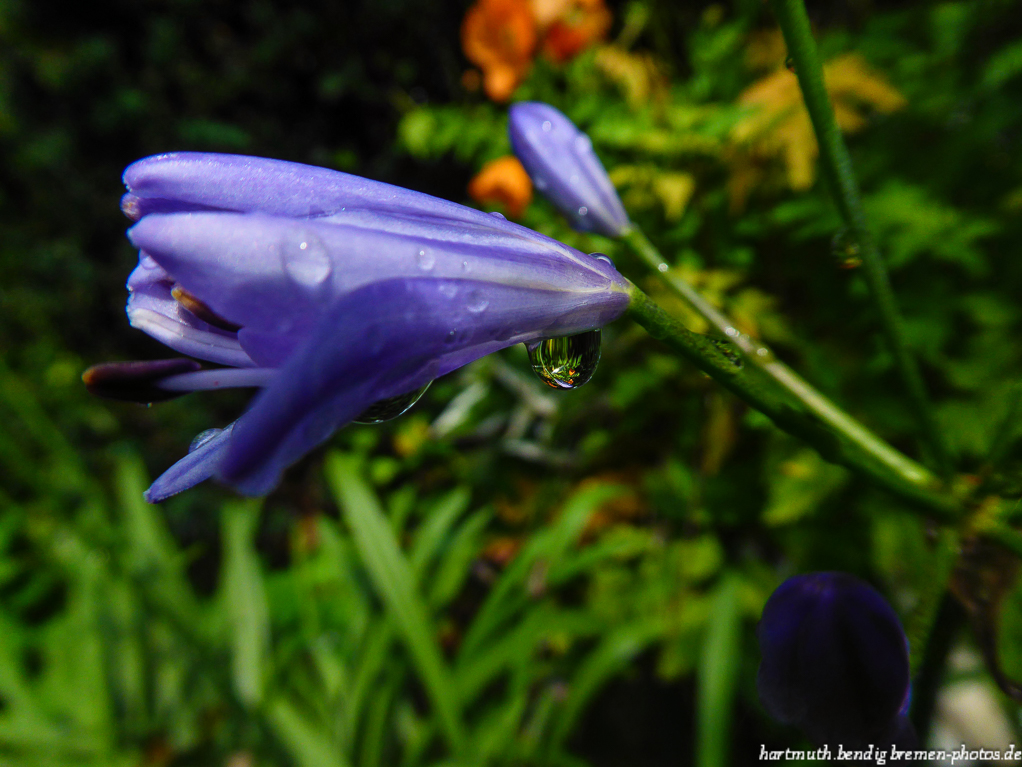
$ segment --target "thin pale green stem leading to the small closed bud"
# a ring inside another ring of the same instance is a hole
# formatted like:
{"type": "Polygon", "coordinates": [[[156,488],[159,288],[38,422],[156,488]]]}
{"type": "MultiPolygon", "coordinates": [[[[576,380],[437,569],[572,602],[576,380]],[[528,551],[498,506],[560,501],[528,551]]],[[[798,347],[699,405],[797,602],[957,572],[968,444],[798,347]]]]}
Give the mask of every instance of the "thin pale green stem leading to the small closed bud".
{"type": "Polygon", "coordinates": [[[777,359],[769,347],[739,332],[734,322],[700,296],[683,277],[665,269],[663,257],[641,230],[631,229],[623,239],[636,255],[655,269],[664,281],[678,291],[689,306],[738,347],[746,359],[787,390],[809,413],[908,482],[920,486],[934,486],[937,483],[936,478],[924,466],[892,448],[777,359]]]}

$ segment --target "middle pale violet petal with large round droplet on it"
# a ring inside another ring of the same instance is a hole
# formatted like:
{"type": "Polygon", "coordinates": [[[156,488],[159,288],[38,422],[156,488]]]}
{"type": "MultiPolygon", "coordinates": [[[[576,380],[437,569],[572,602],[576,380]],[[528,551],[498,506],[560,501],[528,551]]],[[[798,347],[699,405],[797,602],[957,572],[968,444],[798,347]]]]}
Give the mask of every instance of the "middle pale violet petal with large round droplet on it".
{"type": "Polygon", "coordinates": [[[366,226],[235,213],[153,214],[129,236],[185,289],[241,325],[243,346],[244,330],[299,336],[338,297],[398,277],[468,277],[565,291],[626,287],[606,262],[560,243],[550,246],[545,238],[405,217],[353,220],[366,226]]]}

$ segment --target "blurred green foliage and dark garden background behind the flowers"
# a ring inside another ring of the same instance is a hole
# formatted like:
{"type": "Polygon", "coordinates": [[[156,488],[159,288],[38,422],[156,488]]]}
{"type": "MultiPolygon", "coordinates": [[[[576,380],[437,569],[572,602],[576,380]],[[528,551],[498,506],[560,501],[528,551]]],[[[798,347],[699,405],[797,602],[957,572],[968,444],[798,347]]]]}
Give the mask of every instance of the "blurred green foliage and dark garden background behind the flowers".
{"type": "MultiPolygon", "coordinates": [[[[864,109],[849,144],[958,468],[1018,497],[1022,6],[826,5],[824,57],[868,66],[849,103],[881,81],[904,99],[864,109]]],[[[85,394],[88,364],[165,354],[124,321],[121,170],[243,151],[467,201],[509,144],[506,109],[462,86],[465,8],[0,0],[0,763],[752,763],[799,742],[755,693],[753,627],[783,578],[856,573],[910,627],[932,607],[947,565],[925,522],[625,323],[576,392],[508,350],[344,430],[265,502],[143,503],[244,397],[85,394]]],[[[736,139],[773,72],[753,55],[765,4],[613,10],[610,44],[538,58],[515,97],[590,133],[671,268],[916,454],[826,192],[770,149],[783,120],[736,139]]],[[[701,329],[617,243],[541,199],[523,223],[701,329]]],[[[1016,591],[1017,677],[1020,616],[1016,591]]]]}

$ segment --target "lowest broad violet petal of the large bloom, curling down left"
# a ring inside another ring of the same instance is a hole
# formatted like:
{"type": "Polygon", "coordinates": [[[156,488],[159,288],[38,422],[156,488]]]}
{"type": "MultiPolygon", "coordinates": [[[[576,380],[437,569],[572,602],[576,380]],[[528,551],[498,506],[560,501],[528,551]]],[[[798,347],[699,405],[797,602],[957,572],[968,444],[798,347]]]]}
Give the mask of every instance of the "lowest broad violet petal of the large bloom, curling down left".
{"type": "Polygon", "coordinates": [[[373,402],[499,348],[600,327],[626,304],[616,290],[422,277],[361,287],[336,303],[238,420],[219,476],[246,494],[269,492],[287,465],[373,402]]]}

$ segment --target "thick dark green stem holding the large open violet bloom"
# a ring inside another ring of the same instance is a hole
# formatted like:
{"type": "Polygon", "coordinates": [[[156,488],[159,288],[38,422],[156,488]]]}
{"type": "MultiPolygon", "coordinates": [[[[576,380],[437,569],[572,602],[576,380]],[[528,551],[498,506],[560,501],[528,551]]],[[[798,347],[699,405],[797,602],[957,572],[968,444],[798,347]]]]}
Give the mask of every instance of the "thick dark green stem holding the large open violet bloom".
{"type": "MultiPolygon", "coordinates": [[[[875,449],[833,431],[819,416],[807,411],[798,399],[783,390],[779,392],[778,387],[772,386],[770,379],[756,368],[736,364],[712,339],[689,330],[635,285],[630,292],[629,316],[653,337],[665,343],[681,357],[765,414],[780,428],[804,440],[827,460],[866,475],[931,516],[943,522],[961,518],[964,513],[962,504],[925,468],[916,467],[910,461],[905,464],[909,470],[904,470],[903,462],[893,466],[885,462],[875,449]]],[[[904,460],[908,461],[907,458],[904,460]]]]}

